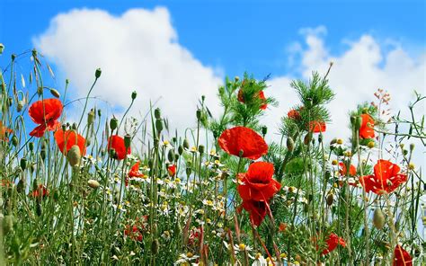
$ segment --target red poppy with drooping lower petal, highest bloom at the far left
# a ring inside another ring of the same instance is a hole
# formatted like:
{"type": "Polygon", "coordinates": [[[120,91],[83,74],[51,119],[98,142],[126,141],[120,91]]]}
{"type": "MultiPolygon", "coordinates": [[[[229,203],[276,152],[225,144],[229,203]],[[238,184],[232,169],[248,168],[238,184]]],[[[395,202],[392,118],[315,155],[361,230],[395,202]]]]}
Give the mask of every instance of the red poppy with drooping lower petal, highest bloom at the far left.
{"type": "Polygon", "coordinates": [[[58,119],[62,113],[62,102],[58,99],[45,99],[31,104],[28,114],[31,120],[39,124],[30,132],[30,136],[41,137],[46,129],[54,131],[59,128],[58,119]]]}

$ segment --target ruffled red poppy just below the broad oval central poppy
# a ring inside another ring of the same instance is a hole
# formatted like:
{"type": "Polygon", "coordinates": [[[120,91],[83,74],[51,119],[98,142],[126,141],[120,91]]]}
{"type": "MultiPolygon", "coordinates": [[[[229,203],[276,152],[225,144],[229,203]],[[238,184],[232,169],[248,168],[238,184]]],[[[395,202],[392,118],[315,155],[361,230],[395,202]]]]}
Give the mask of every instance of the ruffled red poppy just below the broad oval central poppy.
{"type": "Polygon", "coordinates": [[[280,191],[281,185],[272,178],[273,164],[256,162],[250,164],[247,173],[239,173],[237,190],[243,200],[267,201],[280,191]]]}

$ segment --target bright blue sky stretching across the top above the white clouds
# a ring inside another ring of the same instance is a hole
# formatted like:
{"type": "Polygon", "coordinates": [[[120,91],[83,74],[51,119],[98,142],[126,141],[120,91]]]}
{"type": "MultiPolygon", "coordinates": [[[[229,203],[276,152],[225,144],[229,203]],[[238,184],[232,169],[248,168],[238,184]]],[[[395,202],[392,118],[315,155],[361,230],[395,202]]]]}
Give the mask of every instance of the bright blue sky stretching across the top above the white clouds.
{"type": "Polygon", "coordinates": [[[291,66],[278,61],[287,57],[288,44],[299,40],[297,32],[305,27],[324,25],[334,54],[346,48],[342,40],[366,32],[380,40],[398,40],[410,53],[422,51],[426,44],[424,1],[38,2],[3,1],[0,41],[7,52],[32,48],[33,36],[46,31],[55,15],[73,8],[101,8],[119,15],[129,8],[158,5],[171,13],[183,47],[203,64],[223,67],[231,76],[245,70],[259,76],[291,72],[291,66]]]}

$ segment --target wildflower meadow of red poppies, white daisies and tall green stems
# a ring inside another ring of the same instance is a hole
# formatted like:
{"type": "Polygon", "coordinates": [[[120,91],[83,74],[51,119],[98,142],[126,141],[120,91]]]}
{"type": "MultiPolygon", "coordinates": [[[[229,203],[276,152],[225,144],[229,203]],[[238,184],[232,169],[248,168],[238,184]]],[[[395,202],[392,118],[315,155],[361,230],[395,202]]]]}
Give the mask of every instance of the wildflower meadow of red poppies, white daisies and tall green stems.
{"type": "Polygon", "coordinates": [[[422,93],[405,117],[371,92],[342,138],[327,132],[333,63],[291,82],[276,128],[268,77],[242,73],[212,88],[221,113],[203,96],[175,130],[155,102],[129,115],[143,90],[107,117],[91,94],[102,69],[72,99],[37,50],[1,59],[0,265],[426,263],[422,93]]]}

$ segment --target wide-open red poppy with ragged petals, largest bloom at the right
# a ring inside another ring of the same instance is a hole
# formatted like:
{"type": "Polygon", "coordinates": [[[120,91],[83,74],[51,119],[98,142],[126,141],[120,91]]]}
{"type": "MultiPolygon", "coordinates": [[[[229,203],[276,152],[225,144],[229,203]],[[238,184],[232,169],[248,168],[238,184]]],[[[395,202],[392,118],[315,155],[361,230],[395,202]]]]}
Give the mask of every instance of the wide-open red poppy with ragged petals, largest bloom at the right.
{"type": "Polygon", "coordinates": [[[407,175],[399,173],[401,168],[386,160],[378,160],[374,165],[374,174],[361,176],[359,182],[366,192],[373,191],[377,195],[395,191],[400,184],[407,181],[407,175]]]}

